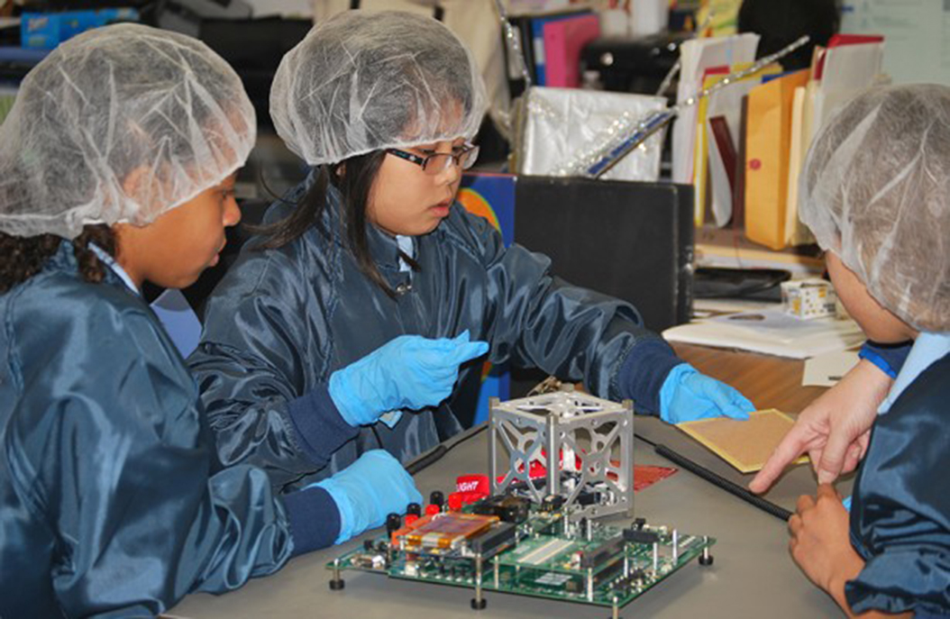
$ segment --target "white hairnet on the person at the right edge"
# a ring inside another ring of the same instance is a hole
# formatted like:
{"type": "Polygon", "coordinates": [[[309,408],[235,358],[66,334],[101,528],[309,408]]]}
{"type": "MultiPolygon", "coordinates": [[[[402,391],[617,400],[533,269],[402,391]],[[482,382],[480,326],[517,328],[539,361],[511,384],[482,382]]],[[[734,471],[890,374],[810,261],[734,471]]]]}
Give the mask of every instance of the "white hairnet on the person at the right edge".
{"type": "Polygon", "coordinates": [[[865,91],[808,152],[802,220],[909,325],[950,330],[950,88],[865,91]]]}

